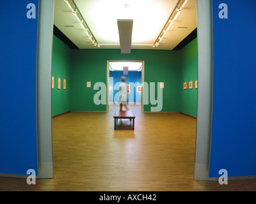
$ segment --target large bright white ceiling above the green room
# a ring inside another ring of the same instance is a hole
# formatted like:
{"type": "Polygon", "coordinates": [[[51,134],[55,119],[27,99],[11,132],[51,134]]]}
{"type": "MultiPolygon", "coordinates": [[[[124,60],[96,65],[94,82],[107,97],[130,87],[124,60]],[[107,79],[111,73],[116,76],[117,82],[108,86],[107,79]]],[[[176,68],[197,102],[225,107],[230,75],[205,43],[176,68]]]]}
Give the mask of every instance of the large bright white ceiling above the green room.
{"type": "MultiPolygon", "coordinates": [[[[172,50],[197,27],[196,0],[189,0],[159,46],[152,47],[177,2],[74,0],[100,48],[120,48],[117,20],[133,19],[132,49],[157,50],[172,50]]],[[[99,49],[92,44],[64,0],[55,0],[54,25],[80,49],[99,49]]]]}

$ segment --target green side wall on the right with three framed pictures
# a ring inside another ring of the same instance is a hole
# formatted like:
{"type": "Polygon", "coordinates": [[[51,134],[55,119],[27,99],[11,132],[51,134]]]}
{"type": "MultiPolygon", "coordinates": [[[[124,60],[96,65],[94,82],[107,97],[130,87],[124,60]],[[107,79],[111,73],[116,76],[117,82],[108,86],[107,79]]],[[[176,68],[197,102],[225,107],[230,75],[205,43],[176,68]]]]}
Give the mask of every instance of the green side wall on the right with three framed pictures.
{"type": "Polygon", "coordinates": [[[180,64],[180,112],[196,117],[197,89],[195,80],[198,73],[197,38],[181,50],[180,64]],[[193,89],[183,89],[183,83],[193,81],[193,89]]]}

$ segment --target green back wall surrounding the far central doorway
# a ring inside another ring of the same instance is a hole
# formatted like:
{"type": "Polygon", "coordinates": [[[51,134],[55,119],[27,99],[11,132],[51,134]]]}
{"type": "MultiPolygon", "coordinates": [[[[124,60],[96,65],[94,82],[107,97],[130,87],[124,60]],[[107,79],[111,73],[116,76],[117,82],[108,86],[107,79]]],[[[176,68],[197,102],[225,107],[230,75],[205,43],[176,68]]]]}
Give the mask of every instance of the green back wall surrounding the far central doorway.
{"type": "MultiPolygon", "coordinates": [[[[93,90],[96,82],[107,80],[108,60],[144,60],[145,82],[164,82],[163,112],[179,110],[179,63],[178,51],[132,50],[131,54],[121,54],[120,50],[72,50],[72,110],[106,111],[106,105],[95,105],[93,90]],[[92,82],[87,88],[86,82],[92,82]]],[[[156,95],[157,96],[157,95],[156,95]]],[[[152,105],[145,105],[150,111],[152,105]]]]}

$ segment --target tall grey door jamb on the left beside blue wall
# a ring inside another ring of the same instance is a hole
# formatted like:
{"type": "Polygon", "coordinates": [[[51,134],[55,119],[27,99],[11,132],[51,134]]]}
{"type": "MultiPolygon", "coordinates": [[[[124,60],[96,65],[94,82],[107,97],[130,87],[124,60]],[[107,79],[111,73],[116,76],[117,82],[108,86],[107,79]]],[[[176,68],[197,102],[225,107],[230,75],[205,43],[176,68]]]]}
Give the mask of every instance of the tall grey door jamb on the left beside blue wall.
{"type": "Polygon", "coordinates": [[[52,165],[52,40],[54,0],[40,0],[37,53],[38,179],[53,177],[52,165]]]}

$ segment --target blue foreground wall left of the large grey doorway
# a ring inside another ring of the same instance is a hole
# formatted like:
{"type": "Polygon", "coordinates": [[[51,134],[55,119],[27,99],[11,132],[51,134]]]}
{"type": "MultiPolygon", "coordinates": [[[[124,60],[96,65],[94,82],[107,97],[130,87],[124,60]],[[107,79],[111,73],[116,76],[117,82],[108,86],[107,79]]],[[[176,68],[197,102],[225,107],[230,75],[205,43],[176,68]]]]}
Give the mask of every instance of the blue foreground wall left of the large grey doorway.
{"type": "Polygon", "coordinates": [[[1,1],[0,11],[0,173],[37,173],[38,0],[1,1]],[[35,4],[36,18],[27,17],[29,3],[35,4]]]}

